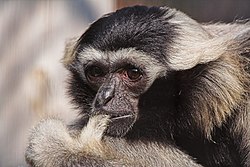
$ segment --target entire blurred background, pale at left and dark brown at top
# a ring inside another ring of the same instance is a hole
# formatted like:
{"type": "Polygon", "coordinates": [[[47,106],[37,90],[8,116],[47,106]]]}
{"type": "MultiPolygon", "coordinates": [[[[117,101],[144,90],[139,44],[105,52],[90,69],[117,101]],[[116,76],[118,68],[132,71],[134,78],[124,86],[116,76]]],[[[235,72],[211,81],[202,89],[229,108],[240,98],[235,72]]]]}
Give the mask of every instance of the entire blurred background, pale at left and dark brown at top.
{"type": "Polygon", "coordinates": [[[167,5],[200,22],[250,18],[249,0],[0,0],[0,167],[26,166],[29,130],[43,117],[77,117],[60,62],[65,41],[132,5],[167,5]]]}

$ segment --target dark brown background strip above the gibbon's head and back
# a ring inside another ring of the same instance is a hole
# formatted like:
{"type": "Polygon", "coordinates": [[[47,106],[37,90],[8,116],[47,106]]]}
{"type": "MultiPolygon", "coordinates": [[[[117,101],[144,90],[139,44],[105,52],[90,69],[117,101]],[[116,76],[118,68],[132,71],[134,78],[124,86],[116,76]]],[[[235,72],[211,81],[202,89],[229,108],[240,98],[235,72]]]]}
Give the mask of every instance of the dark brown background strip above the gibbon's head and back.
{"type": "Polygon", "coordinates": [[[116,8],[136,4],[167,5],[201,22],[232,22],[236,19],[250,18],[250,0],[116,0],[116,8]]]}

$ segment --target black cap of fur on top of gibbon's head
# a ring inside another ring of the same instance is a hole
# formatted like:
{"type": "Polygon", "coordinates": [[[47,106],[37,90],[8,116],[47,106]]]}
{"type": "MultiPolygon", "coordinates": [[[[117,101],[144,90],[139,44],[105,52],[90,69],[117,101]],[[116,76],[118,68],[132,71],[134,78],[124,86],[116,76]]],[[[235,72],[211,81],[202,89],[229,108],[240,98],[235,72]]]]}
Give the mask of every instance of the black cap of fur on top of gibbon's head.
{"type": "Polygon", "coordinates": [[[173,31],[175,25],[168,23],[171,17],[164,18],[167,12],[158,7],[145,6],[117,10],[94,22],[80,37],[78,46],[81,49],[91,46],[101,51],[135,47],[145,53],[152,53],[162,62],[176,35],[173,31]]]}

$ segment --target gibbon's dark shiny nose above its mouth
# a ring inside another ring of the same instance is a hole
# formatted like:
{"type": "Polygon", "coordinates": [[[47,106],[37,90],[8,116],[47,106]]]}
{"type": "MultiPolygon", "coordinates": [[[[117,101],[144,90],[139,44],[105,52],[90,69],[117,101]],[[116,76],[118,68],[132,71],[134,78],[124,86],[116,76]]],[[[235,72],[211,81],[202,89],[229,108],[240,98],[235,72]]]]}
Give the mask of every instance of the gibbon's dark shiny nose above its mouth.
{"type": "Polygon", "coordinates": [[[96,95],[95,108],[105,106],[114,97],[114,93],[114,85],[101,87],[96,95]]]}

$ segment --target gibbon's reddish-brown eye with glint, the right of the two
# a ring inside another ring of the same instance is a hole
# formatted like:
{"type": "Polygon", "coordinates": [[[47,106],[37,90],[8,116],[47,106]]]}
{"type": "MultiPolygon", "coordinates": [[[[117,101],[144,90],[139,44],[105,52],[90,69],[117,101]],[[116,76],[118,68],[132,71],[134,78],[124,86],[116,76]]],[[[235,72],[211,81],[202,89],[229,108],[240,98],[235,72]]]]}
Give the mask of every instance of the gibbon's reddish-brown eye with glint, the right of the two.
{"type": "Polygon", "coordinates": [[[129,66],[125,68],[124,75],[131,81],[138,81],[142,78],[142,72],[139,68],[134,66],[129,66]]]}

